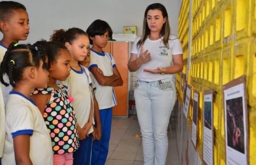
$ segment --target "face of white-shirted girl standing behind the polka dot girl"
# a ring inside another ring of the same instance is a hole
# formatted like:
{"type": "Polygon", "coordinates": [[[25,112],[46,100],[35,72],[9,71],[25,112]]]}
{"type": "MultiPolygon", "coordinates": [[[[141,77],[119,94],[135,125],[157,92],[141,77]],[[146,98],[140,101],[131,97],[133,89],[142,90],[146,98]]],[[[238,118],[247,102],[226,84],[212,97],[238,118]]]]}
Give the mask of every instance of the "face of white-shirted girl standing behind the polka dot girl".
{"type": "Polygon", "coordinates": [[[89,38],[86,35],[78,35],[72,44],[68,44],[71,57],[76,61],[83,61],[89,49],[89,38]]]}

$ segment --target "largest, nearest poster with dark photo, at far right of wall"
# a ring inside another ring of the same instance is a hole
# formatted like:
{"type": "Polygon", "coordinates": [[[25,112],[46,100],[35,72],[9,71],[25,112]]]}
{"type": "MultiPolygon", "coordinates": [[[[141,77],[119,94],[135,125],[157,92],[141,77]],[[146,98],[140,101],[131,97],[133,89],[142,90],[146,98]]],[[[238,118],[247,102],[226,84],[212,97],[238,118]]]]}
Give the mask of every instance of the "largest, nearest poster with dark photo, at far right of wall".
{"type": "Polygon", "coordinates": [[[227,165],[248,164],[245,76],[223,86],[227,165]]]}

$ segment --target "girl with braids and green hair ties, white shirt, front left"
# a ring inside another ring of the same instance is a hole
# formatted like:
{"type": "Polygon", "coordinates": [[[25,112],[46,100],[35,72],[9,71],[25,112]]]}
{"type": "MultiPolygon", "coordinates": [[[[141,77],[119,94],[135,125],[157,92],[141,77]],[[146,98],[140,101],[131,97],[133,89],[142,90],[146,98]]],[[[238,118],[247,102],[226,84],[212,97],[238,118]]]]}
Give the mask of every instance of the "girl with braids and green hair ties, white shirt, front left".
{"type": "Polygon", "coordinates": [[[37,47],[30,45],[11,43],[0,65],[0,81],[13,87],[5,105],[3,165],[52,165],[47,127],[37,105],[29,99],[35,88],[47,85],[44,51],[39,52],[37,47]],[[6,74],[9,82],[3,79],[6,74]]]}

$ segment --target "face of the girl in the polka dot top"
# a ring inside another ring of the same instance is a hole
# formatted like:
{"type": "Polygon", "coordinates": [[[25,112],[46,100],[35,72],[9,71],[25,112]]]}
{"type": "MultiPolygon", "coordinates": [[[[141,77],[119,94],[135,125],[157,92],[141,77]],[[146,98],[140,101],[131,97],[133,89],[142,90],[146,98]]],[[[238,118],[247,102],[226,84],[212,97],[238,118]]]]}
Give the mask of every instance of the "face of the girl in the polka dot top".
{"type": "Polygon", "coordinates": [[[57,60],[51,64],[49,69],[49,77],[65,81],[70,75],[71,55],[67,49],[60,49],[58,54],[57,60]]]}

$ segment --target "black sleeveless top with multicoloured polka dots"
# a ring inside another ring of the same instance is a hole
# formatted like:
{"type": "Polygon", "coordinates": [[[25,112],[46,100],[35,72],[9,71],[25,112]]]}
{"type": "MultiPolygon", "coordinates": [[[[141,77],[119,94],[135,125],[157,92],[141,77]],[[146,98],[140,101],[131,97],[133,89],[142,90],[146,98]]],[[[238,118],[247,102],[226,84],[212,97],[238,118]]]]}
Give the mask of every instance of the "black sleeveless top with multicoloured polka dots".
{"type": "Polygon", "coordinates": [[[53,154],[73,153],[79,148],[75,111],[68,98],[67,87],[57,85],[58,90],[52,87],[38,88],[32,94],[51,95],[45,106],[44,121],[52,139],[53,154]]]}

